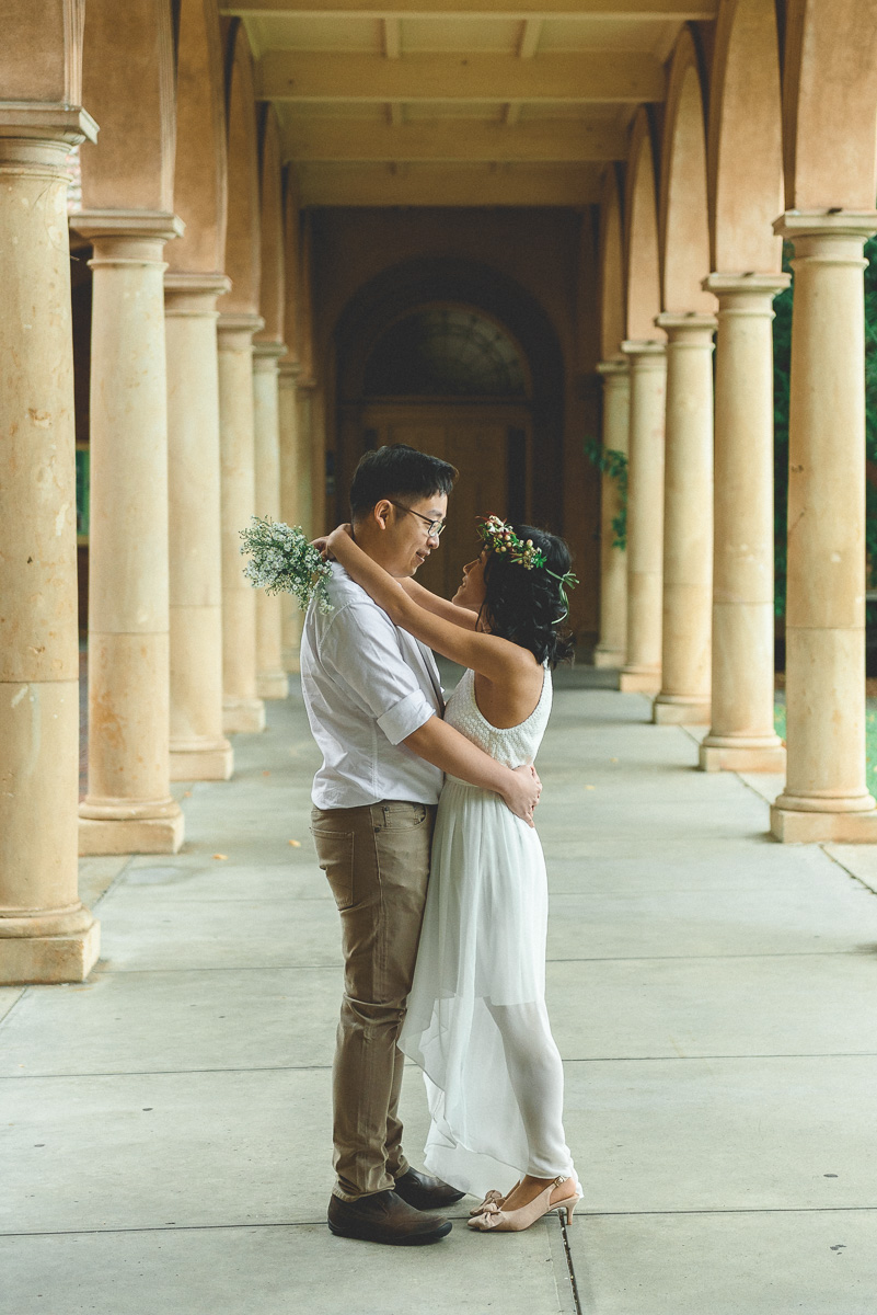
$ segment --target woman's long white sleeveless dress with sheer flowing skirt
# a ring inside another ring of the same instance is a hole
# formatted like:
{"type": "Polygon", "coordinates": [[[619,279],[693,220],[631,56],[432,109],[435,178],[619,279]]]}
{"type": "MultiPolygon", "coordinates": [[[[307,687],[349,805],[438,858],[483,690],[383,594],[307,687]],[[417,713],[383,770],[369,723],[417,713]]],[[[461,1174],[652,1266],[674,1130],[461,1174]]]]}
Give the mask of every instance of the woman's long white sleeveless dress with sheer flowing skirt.
{"type": "MultiPolygon", "coordinates": [[[[533,713],[487,722],[474,672],[445,721],[508,767],[532,763],[551,710],[546,668],[533,713]]],[[[432,1124],[425,1168],[460,1190],[507,1191],[523,1174],[574,1174],[563,1134],[563,1066],[545,1009],[547,881],[538,835],[488,790],[449,776],[402,1051],[424,1070],[432,1124]]]]}

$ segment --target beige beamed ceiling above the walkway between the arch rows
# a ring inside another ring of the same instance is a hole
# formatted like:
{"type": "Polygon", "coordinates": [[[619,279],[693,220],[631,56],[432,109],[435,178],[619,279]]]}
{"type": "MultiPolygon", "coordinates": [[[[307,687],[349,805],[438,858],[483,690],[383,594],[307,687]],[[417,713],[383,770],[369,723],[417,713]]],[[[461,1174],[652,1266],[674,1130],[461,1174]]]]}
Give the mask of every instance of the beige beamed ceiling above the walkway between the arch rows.
{"type": "Polygon", "coordinates": [[[310,205],[588,205],[718,0],[221,0],[310,205]]]}

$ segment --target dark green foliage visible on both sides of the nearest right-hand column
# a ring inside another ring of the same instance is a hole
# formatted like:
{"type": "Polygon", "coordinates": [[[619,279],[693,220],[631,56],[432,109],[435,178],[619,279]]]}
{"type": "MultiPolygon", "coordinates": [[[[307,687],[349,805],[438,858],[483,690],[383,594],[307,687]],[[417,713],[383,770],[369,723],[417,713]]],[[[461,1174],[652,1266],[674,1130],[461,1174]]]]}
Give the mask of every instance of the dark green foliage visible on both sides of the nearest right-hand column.
{"type": "MultiPolygon", "coordinates": [[[[792,272],[792,247],[782,249],[782,268],[792,272]]],[[[877,463],[877,238],[865,243],[865,455],[877,463]]],[[[786,512],[789,497],[789,368],[794,283],[773,302],[773,529],[777,615],[785,613],[786,512]]],[[[877,472],[876,472],[877,473],[877,472]]],[[[865,484],[865,548],[877,569],[877,485],[865,484]]],[[[869,581],[870,583],[870,581],[869,581]]],[[[869,609],[870,610],[870,609],[869,609]]]]}

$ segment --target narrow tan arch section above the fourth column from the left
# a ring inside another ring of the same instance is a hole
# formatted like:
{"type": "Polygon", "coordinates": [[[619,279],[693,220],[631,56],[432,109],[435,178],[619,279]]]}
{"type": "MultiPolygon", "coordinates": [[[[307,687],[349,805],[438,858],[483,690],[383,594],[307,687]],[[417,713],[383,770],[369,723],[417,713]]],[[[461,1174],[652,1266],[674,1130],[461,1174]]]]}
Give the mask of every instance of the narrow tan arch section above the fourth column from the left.
{"type": "Polygon", "coordinates": [[[223,297],[222,310],[223,314],[259,314],[261,230],[253,60],[246,29],[236,18],[231,20],[226,32],[226,274],[231,279],[231,292],[223,297]]]}

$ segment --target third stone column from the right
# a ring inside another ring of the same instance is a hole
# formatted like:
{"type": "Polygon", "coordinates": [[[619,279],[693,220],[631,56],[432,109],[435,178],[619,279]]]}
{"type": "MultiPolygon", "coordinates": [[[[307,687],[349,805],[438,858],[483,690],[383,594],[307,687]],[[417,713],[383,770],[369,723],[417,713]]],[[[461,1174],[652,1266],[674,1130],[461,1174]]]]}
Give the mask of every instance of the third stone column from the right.
{"type": "Polygon", "coordinates": [[[667,333],[664,608],[658,726],[709,726],[713,631],[713,334],[704,314],[660,314],[667,333]]]}

